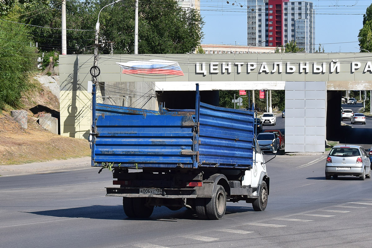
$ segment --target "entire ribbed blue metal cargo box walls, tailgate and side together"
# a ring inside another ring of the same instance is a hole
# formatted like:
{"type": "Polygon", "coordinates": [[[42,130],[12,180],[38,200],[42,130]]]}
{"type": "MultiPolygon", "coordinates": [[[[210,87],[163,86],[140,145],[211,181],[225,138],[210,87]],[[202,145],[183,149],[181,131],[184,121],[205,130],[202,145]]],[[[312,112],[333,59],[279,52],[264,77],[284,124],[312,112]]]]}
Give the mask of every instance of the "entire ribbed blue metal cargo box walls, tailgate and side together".
{"type": "Polygon", "coordinates": [[[200,103],[199,128],[195,119],[193,110],[158,112],[97,104],[92,166],[251,167],[253,112],[200,103]]]}

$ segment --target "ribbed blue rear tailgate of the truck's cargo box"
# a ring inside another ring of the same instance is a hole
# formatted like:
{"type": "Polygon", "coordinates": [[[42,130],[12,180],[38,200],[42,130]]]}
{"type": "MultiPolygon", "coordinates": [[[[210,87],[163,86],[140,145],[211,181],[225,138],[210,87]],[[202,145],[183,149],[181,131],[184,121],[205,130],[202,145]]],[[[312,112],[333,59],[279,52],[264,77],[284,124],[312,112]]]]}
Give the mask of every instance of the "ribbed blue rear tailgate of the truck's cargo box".
{"type": "Polygon", "coordinates": [[[97,104],[93,166],[192,168],[193,112],[158,112],[97,104]]]}

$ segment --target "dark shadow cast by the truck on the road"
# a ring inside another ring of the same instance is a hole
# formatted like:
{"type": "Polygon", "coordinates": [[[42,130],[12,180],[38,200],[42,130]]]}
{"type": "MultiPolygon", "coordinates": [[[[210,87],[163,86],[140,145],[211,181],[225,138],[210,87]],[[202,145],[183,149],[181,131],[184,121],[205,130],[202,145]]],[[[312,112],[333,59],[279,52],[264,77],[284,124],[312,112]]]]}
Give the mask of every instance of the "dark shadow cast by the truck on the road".
{"type": "MultiPolygon", "coordinates": [[[[20,211],[21,212],[21,211],[20,211]]],[[[254,212],[252,207],[246,206],[227,206],[225,215],[232,213],[254,212]]],[[[150,218],[128,218],[126,217],[123,206],[93,205],[87,207],[72,207],[66,209],[54,209],[32,213],[35,215],[65,217],[65,218],[87,218],[105,220],[157,220],[157,221],[177,221],[177,219],[198,220],[198,216],[192,210],[182,208],[177,211],[169,210],[167,207],[155,207],[150,218]]]]}

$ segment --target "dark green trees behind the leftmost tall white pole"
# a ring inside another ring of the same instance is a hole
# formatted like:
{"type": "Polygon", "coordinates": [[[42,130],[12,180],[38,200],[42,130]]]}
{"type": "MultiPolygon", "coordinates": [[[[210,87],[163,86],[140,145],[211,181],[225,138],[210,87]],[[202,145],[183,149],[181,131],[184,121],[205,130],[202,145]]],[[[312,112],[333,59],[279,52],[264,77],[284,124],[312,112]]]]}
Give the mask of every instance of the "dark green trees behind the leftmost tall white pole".
{"type": "MultiPolygon", "coordinates": [[[[66,4],[68,54],[93,54],[94,29],[100,9],[98,0],[68,1],[66,4]]],[[[50,0],[50,4],[25,7],[23,12],[27,14],[20,16],[19,21],[33,25],[31,26],[33,40],[35,43],[38,42],[38,47],[42,51],[60,50],[62,46],[60,0],[50,0]],[[39,9],[47,9],[47,11],[40,12],[39,9]],[[38,15],[35,15],[35,12],[38,15]]]]}

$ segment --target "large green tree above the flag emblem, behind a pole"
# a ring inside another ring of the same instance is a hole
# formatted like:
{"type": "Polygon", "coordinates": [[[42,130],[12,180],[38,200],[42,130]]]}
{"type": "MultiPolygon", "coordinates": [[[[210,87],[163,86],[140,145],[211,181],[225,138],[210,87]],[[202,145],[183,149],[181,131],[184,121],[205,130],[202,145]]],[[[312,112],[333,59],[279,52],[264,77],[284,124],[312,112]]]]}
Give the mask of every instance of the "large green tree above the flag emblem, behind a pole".
{"type": "MultiPolygon", "coordinates": [[[[203,38],[204,22],[199,11],[182,10],[174,0],[143,0],[139,16],[140,54],[191,53],[203,38]]],[[[113,6],[100,22],[102,41],[114,42],[115,53],[134,53],[134,0],[125,6],[113,6]]],[[[108,53],[109,48],[104,52],[108,53]]]]}

